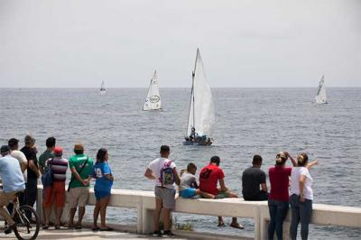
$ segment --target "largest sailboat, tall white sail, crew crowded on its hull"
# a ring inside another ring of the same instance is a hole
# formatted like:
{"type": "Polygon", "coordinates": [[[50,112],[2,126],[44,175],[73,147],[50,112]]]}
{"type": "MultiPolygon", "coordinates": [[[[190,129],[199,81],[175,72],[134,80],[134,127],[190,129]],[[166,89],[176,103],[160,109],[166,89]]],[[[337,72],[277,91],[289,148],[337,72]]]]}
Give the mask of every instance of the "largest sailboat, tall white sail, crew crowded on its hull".
{"type": "Polygon", "coordinates": [[[204,71],[203,62],[197,49],[196,63],[192,72],[190,111],[184,145],[210,145],[215,112],[212,92],[204,71]]]}

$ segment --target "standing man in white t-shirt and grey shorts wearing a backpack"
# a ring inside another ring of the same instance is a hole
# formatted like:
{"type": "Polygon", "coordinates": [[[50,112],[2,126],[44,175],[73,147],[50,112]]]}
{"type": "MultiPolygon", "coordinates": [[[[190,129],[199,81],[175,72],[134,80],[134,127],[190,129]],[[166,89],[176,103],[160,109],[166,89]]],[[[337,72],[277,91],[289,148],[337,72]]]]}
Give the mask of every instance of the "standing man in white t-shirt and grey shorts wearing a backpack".
{"type": "Polygon", "coordinates": [[[154,236],[172,236],[171,233],[171,209],[175,207],[174,183],[180,185],[180,176],[176,171],[174,162],[168,159],[170,147],[161,146],[161,157],[153,160],[146,169],[144,176],[155,180],[155,211],[154,211],[154,236]],[[161,211],[164,214],[164,232],[159,230],[161,211]]]}

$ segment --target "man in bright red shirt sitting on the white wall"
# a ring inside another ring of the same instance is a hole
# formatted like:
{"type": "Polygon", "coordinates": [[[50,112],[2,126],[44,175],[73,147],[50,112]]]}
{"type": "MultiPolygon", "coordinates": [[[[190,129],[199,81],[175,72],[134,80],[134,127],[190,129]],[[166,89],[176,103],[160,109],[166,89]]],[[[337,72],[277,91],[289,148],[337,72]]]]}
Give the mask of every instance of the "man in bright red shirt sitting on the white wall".
{"type": "MultiPolygon", "coordinates": [[[[208,166],[204,167],[199,173],[199,189],[216,198],[238,198],[236,193],[231,192],[225,183],[225,173],[219,167],[220,159],[218,156],[210,158],[208,166]],[[217,188],[219,181],[220,189],[217,188]]],[[[218,217],[218,226],[225,226],[222,217],[218,217]]],[[[236,217],[232,217],[231,226],[243,229],[244,227],[237,223],[236,217]]]]}

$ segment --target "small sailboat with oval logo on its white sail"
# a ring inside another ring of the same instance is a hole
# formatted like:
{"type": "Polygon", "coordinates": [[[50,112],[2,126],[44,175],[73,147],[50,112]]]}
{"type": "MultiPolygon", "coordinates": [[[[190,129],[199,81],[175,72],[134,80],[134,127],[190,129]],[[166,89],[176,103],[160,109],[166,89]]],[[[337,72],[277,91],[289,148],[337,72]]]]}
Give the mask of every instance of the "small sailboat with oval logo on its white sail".
{"type": "Polygon", "coordinates": [[[148,93],[145,97],[143,110],[162,110],[162,100],[161,95],[159,94],[157,70],[154,71],[153,78],[151,79],[148,93]]]}

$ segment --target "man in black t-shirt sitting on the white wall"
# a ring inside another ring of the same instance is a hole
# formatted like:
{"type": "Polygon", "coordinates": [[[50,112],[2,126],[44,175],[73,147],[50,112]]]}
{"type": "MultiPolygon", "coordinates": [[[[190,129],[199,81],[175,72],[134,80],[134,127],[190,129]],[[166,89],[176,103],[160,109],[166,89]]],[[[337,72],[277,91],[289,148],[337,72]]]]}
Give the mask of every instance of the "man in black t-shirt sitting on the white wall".
{"type": "Polygon", "coordinates": [[[265,173],[261,170],[262,157],[255,155],[252,167],[242,174],[242,194],[246,201],[265,201],[268,199],[265,173]],[[262,188],[262,190],[260,189],[262,188]]]}

